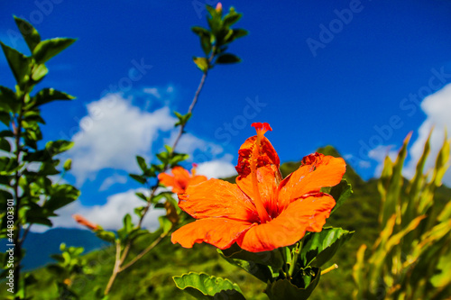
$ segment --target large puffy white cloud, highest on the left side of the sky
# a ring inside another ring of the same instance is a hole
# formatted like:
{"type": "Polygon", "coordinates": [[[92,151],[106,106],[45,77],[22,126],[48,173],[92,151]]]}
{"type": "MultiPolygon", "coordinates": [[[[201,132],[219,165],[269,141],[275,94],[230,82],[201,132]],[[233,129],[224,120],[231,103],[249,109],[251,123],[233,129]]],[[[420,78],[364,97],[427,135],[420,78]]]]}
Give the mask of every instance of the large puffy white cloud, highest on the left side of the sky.
{"type": "Polygon", "coordinates": [[[135,156],[146,156],[159,132],[175,123],[169,107],[143,112],[118,94],[90,103],[87,111],[79,122],[80,131],[72,138],[75,145],[68,151],[78,184],[102,168],[137,170],[135,156]]]}

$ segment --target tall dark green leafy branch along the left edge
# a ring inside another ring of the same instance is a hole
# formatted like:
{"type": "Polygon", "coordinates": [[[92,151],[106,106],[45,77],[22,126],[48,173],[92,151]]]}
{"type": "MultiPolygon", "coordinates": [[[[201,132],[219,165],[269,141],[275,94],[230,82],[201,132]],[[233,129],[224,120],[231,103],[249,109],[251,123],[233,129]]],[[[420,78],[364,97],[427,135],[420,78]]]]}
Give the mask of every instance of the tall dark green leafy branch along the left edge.
{"type": "MultiPolygon", "coordinates": [[[[44,65],[49,59],[69,47],[75,40],[57,38],[41,41],[39,33],[25,20],[15,17],[15,23],[32,55],[27,57],[0,42],[5,58],[16,81],[15,91],[0,86],[0,121],[5,130],[0,137],[0,203],[14,199],[14,213],[0,210],[0,238],[8,238],[14,249],[15,299],[27,299],[24,284],[32,285],[31,277],[20,277],[21,259],[24,255],[22,243],[32,224],[51,226],[50,217],[55,211],[78,198],[74,186],[59,184],[51,176],[59,175],[60,159],[56,156],[69,150],[70,141],[49,141],[40,148],[42,140],[41,105],[55,100],[71,100],[74,97],[44,88],[32,95],[34,87],[41,82],[49,70],[44,65]],[[7,219],[13,216],[14,221],[7,219]]],[[[62,167],[69,170],[70,161],[62,167]]],[[[2,267],[5,259],[2,259],[2,267]]],[[[11,268],[11,267],[9,267],[11,268]]],[[[4,273],[5,275],[5,273],[4,273]]]]}

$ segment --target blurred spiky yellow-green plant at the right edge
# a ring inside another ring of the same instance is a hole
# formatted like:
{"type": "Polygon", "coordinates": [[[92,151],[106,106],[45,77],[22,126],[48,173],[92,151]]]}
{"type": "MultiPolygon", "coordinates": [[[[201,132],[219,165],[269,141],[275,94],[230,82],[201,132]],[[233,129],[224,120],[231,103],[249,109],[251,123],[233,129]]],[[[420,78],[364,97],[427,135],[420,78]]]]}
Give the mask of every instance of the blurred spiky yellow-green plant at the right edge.
{"type": "MultiPolygon", "coordinates": [[[[384,161],[378,189],[381,233],[357,251],[354,299],[446,299],[451,295],[451,201],[438,207],[435,192],[448,167],[445,139],[434,168],[424,173],[430,134],[416,173],[402,177],[410,135],[392,162],[384,161]]],[[[449,299],[449,298],[448,298],[449,299]]]]}

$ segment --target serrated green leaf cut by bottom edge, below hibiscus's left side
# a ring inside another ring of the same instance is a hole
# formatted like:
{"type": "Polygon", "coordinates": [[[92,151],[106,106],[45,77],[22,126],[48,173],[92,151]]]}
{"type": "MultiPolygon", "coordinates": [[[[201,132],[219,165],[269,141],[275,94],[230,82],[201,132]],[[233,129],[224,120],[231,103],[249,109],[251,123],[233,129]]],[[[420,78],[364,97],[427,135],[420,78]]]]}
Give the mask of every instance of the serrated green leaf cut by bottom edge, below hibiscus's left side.
{"type": "Polygon", "coordinates": [[[245,300],[240,287],[228,279],[194,272],[172,278],[179,289],[197,299],[245,300]]]}

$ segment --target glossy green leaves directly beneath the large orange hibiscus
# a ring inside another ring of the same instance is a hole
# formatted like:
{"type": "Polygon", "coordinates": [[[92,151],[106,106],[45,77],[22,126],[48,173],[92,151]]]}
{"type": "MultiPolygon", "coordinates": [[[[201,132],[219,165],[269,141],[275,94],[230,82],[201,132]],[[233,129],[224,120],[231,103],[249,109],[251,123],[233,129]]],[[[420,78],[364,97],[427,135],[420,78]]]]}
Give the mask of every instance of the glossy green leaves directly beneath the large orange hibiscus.
{"type": "MultiPolygon", "coordinates": [[[[353,193],[345,180],[328,192],[336,199],[337,206],[353,193]]],[[[308,299],[318,286],[322,272],[328,271],[322,270],[323,267],[353,234],[341,228],[325,227],[321,232],[307,232],[294,245],[272,251],[249,252],[236,244],[217,251],[229,263],[262,280],[270,299],[308,299]]],[[[216,299],[222,295],[227,295],[227,299],[245,299],[240,288],[228,279],[203,273],[173,278],[180,289],[197,299],[216,299]]]]}

